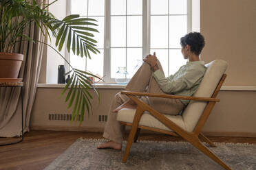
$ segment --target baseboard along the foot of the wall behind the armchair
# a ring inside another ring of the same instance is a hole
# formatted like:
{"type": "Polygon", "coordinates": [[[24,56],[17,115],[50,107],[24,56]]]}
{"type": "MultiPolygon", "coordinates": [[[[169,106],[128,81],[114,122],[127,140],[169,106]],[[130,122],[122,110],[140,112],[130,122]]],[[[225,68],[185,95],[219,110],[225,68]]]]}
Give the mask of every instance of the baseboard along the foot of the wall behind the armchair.
{"type": "MultiPolygon", "coordinates": [[[[74,126],[42,126],[32,125],[30,130],[52,130],[52,131],[77,131],[77,132],[103,132],[104,127],[74,127],[74,126]]],[[[129,130],[129,128],[127,128],[129,130]]],[[[158,132],[151,132],[149,130],[142,130],[142,133],[159,134],[158,132]]],[[[253,132],[202,132],[206,136],[234,136],[234,137],[256,137],[253,132]]]]}

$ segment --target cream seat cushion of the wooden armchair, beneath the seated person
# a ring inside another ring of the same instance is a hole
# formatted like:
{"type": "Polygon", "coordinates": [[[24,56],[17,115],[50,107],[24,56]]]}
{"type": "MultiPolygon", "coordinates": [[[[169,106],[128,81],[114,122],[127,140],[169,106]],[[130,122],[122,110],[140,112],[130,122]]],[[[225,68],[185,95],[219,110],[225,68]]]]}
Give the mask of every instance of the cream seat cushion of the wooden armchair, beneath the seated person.
{"type": "MultiPolygon", "coordinates": [[[[125,109],[119,110],[117,113],[116,119],[118,121],[132,123],[134,121],[135,112],[136,112],[135,109],[126,109],[125,108],[125,109]]],[[[163,115],[166,116],[171,121],[173,121],[174,123],[176,123],[177,125],[179,125],[180,127],[182,127],[183,129],[185,128],[184,121],[182,120],[182,116],[180,116],[180,115],[173,116],[173,115],[168,115],[168,114],[163,114],[163,115]]],[[[160,130],[172,131],[169,129],[169,127],[167,127],[166,125],[164,125],[163,123],[158,121],[158,119],[151,116],[151,114],[149,114],[149,112],[144,112],[142,114],[139,125],[145,125],[147,127],[155,127],[160,130]]]]}

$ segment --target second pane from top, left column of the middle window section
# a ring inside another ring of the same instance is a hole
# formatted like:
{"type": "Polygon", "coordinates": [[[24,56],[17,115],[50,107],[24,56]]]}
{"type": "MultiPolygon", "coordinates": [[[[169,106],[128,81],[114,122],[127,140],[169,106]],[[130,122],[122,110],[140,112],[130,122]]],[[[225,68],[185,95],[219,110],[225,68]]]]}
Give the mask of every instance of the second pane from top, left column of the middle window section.
{"type": "Polygon", "coordinates": [[[125,47],[125,16],[111,16],[111,47],[125,47]]]}

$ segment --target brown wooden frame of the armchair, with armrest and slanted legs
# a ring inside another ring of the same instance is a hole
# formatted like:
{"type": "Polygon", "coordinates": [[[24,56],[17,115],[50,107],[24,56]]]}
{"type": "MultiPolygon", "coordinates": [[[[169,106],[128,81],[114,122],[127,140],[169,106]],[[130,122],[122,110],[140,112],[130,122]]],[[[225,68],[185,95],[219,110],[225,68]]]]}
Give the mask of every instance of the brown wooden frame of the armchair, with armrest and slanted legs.
{"type": "Polygon", "coordinates": [[[204,126],[204,123],[208,119],[211,110],[213,109],[213,106],[215,106],[216,102],[219,102],[220,99],[216,99],[217,94],[220,91],[220,88],[226,78],[226,74],[222,75],[222,78],[217,84],[217,87],[215,88],[215,91],[211,98],[209,97],[188,97],[188,96],[177,96],[177,95],[162,95],[162,94],[151,94],[151,93],[136,93],[136,92],[129,92],[129,91],[121,91],[122,94],[127,95],[130,99],[136,102],[137,108],[136,108],[136,114],[134,115],[134,121],[133,123],[127,123],[120,121],[122,125],[129,125],[131,126],[131,131],[129,133],[129,137],[127,140],[127,145],[125,148],[125,154],[122,157],[122,162],[126,162],[129,150],[131,148],[131,144],[137,141],[138,134],[140,132],[140,129],[145,129],[145,130],[151,130],[155,132],[162,132],[164,134],[170,134],[173,136],[181,136],[184,138],[186,141],[191,143],[194,147],[198,148],[200,151],[202,151],[206,156],[209,156],[212,160],[217,162],[219,165],[224,167],[224,169],[231,169],[226,165],[220,158],[218,158],[211,150],[209,150],[203,143],[201,143],[200,139],[202,141],[205,141],[206,143],[209,143],[210,146],[215,147],[215,145],[209,140],[209,138],[206,138],[201,132],[202,127],[204,126]],[[197,125],[195,125],[195,128],[193,132],[188,132],[186,130],[183,130],[182,127],[179,125],[175,124],[173,121],[167,119],[163,114],[160,112],[154,110],[151,108],[149,105],[145,104],[144,102],[140,101],[137,96],[148,96],[148,97],[164,97],[164,98],[170,98],[170,99],[186,99],[186,100],[194,100],[194,101],[205,101],[208,104],[204,108],[204,112],[202,113],[197,125]],[[146,127],[143,125],[139,125],[140,118],[142,117],[143,112],[149,112],[153,117],[158,119],[160,122],[164,123],[167,127],[169,127],[173,132],[167,131],[167,130],[160,130],[154,127],[146,127]]]}

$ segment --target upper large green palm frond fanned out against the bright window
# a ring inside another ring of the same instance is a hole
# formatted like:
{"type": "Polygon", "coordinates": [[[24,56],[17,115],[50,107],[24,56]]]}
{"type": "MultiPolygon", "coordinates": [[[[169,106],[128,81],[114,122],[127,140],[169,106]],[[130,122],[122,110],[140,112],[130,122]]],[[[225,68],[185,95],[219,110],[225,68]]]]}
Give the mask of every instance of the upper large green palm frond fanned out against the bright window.
{"type": "Polygon", "coordinates": [[[66,16],[63,20],[52,19],[48,22],[52,32],[56,32],[56,46],[58,50],[61,51],[63,48],[63,43],[67,40],[67,51],[70,52],[71,44],[72,51],[76,56],[89,56],[89,51],[92,53],[100,53],[96,49],[96,40],[94,37],[94,32],[98,32],[97,29],[88,27],[88,25],[96,25],[97,22],[95,19],[80,18],[79,15],[70,15],[66,16]],[[83,26],[74,26],[74,25],[83,25],[83,26]],[[85,52],[86,51],[86,52],[85,52]]]}

